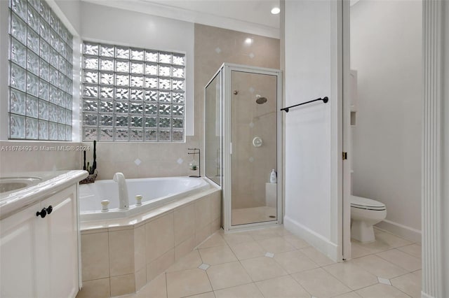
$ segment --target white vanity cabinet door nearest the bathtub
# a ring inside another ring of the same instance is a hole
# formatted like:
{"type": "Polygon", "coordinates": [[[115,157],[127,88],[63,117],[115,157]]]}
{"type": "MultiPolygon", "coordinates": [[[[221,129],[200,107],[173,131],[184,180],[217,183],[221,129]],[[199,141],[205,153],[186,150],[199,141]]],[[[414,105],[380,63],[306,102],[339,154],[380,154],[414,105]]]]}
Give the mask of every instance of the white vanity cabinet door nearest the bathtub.
{"type": "Polygon", "coordinates": [[[49,292],[41,297],[75,297],[78,292],[78,226],[76,186],[41,202],[47,215],[49,292]]]}

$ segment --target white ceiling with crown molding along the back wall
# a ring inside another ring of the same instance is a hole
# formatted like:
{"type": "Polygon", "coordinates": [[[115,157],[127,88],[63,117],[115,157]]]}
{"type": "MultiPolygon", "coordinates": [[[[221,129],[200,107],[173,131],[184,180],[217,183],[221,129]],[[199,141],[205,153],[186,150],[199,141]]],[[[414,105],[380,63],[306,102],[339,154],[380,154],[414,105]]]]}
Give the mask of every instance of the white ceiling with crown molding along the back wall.
{"type": "Polygon", "coordinates": [[[140,13],[279,38],[279,0],[83,0],[140,13]]]}

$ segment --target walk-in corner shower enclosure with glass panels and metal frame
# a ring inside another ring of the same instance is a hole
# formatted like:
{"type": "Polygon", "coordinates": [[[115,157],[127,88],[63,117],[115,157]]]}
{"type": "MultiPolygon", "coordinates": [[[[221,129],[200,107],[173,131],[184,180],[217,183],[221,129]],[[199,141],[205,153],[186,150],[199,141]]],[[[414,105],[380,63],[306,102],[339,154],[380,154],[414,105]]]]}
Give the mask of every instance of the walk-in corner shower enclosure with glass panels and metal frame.
{"type": "Polygon", "coordinates": [[[206,85],[206,176],[222,186],[225,232],[281,223],[280,106],[276,69],[223,64],[206,85]]]}

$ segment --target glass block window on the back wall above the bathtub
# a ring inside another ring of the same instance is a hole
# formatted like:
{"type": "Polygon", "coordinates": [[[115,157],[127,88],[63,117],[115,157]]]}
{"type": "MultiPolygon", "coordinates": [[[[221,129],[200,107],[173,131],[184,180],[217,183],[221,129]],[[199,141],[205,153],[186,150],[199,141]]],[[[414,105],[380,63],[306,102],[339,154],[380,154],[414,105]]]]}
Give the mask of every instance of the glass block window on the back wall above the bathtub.
{"type": "Polygon", "coordinates": [[[83,43],[83,141],[185,136],[185,54],[83,43]]]}

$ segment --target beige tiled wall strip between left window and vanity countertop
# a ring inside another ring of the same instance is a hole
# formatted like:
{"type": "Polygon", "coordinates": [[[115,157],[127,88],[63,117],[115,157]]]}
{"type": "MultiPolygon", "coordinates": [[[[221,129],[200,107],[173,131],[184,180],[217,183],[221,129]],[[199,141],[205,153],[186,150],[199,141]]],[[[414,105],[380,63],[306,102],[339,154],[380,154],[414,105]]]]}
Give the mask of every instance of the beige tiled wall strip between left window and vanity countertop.
{"type": "MultiPolygon", "coordinates": [[[[80,169],[79,143],[0,141],[0,175],[23,171],[80,169]],[[66,146],[71,146],[68,150],[66,146]],[[21,150],[20,150],[21,149],[21,150]]],[[[82,168],[81,168],[82,169],[82,168]]]]}

